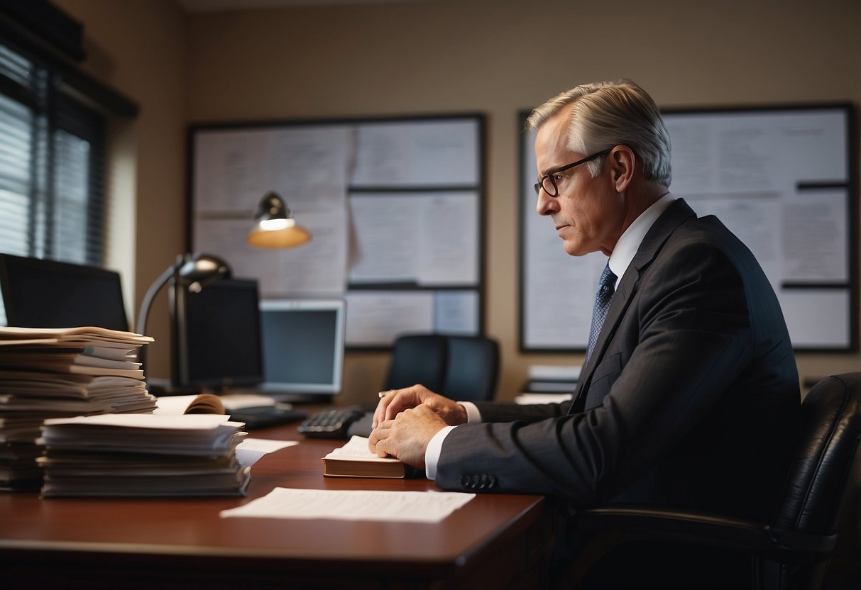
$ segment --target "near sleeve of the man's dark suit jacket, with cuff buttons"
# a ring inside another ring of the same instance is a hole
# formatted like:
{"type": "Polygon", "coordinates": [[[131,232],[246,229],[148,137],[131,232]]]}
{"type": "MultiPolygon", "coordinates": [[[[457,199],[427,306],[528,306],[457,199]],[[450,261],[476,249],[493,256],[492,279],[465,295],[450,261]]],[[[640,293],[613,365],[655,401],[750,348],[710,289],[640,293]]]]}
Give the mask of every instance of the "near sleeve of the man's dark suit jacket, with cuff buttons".
{"type": "Polygon", "coordinates": [[[691,240],[673,250],[642,275],[598,360],[590,386],[606,388],[600,405],[456,427],[437,465],[441,488],[588,506],[617,495],[697,427],[745,366],[750,321],[740,271],[720,248],[691,240]]]}

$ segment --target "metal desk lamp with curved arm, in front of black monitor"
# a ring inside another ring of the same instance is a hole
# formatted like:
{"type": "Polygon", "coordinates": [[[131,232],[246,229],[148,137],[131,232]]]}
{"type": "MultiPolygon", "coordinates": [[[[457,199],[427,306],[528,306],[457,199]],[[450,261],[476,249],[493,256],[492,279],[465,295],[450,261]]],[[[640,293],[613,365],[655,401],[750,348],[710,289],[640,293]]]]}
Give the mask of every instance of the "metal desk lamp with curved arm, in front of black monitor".
{"type": "MultiPolygon", "coordinates": [[[[149,314],[152,301],[161,291],[162,287],[170,283],[168,292],[168,310],[170,312],[170,384],[176,386],[182,383],[179,374],[179,349],[183,345],[179,326],[181,324],[179,314],[185,310],[185,293],[200,292],[202,287],[213,280],[226,279],[231,275],[230,266],[226,261],[211,254],[181,254],[177,255],[177,261],[167,267],[158,279],[152,282],[146,290],[143,301],[140,303],[138,323],[135,331],[138,334],[146,334],[146,316],[149,314]]],[[[139,361],[144,363],[144,348],[141,347],[139,361]]]]}

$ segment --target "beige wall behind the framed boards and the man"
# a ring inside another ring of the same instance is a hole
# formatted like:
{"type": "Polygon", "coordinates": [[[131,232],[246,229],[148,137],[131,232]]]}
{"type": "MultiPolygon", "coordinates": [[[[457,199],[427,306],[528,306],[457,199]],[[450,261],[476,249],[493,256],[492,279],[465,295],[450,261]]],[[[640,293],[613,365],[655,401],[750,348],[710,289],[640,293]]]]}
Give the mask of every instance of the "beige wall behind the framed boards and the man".
{"type": "MultiPolygon", "coordinates": [[[[662,107],[861,102],[858,0],[429,0],[187,19],[170,0],[57,3],[107,62],[88,67],[142,106],[136,301],[183,247],[186,121],[485,113],[486,326],[502,344],[502,398],[530,364],[582,360],[517,351],[519,110],[619,77],[662,107]]],[[[798,363],[817,377],[857,370],[861,354],[798,363]]],[[[386,366],[385,354],[349,354],[344,402],[373,395],[386,366]]]]}

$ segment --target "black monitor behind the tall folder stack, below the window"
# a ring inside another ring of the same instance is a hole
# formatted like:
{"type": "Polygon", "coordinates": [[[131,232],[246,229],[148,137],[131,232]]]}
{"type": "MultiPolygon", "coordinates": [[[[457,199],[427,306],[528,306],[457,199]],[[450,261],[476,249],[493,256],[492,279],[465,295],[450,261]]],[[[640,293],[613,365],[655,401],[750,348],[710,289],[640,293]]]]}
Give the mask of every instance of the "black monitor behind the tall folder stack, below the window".
{"type": "Polygon", "coordinates": [[[112,270],[0,254],[0,291],[9,326],[128,329],[120,273],[112,270]]]}

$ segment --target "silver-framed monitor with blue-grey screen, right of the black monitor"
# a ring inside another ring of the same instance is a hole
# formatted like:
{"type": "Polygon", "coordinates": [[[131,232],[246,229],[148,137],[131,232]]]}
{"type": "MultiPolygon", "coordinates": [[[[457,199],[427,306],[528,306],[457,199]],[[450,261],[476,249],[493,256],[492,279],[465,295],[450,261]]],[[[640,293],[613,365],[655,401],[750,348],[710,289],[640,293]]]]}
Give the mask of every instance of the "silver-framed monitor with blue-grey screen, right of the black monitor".
{"type": "Polygon", "coordinates": [[[261,390],[291,401],[324,401],[341,391],[343,299],[271,299],[260,303],[261,390]]]}

